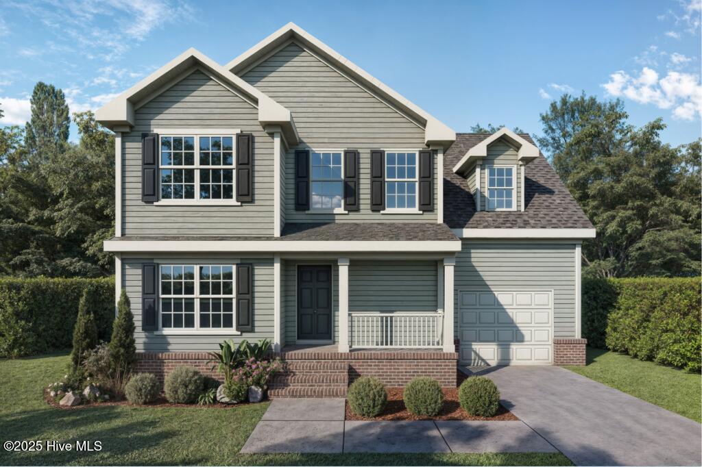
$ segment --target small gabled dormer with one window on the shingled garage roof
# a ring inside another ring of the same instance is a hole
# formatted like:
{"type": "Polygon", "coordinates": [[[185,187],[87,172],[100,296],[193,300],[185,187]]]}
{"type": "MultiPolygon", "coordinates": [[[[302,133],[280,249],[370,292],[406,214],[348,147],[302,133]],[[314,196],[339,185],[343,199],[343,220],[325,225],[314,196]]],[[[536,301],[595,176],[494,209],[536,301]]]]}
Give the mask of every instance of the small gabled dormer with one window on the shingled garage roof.
{"type": "Polygon", "coordinates": [[[477,211],[524,211],[524,166],[538,157],[538,148],[501,128],[468,149],[454,167],[468,183],[477,211]]]}

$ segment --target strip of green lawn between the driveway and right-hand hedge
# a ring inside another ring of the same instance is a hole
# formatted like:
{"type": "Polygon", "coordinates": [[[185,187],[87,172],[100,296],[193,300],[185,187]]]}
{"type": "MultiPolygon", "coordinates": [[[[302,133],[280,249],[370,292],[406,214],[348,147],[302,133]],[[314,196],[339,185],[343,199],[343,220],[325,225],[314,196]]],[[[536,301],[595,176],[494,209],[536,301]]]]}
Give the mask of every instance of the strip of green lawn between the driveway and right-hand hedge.
{"type": "Polygon", "coordinates": [[[588,365],[567,368],[671,412],[701,421],[702,379],[699,374],[590,347],[588,365]]]}

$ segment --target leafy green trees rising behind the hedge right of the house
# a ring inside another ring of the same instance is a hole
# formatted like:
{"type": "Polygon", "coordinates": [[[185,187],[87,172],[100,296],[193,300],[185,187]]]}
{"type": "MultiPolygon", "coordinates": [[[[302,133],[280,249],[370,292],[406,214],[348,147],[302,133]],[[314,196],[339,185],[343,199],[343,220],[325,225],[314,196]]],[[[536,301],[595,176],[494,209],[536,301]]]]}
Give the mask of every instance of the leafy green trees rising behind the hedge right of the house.
{"type": "Polygon", "coordinates": [[[661,119],[627,123],[620,100],[563,95],[541,114],[541,149],[597,229],[583,243],[590,276],[698,274],[699,142],[661,142],[661,119]]]}

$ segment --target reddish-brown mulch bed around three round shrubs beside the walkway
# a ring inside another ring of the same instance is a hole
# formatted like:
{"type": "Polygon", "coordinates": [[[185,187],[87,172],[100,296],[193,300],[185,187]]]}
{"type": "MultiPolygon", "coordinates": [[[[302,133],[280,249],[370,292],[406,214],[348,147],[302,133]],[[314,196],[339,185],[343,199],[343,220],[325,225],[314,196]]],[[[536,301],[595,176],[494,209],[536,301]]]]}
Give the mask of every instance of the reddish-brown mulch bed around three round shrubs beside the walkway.
{"type": "MultiPolygon", "coordinates": [[[[467,378],[463,372],[457,374],[458,386],[467,378]]],[[[489,421],[504,421],[504,420],[519,420],[515,414],[505,409],[502,405],[497,411],[495,417],[474,417],[461,408],[461,403],[458,402],[458,388],[444,388],[444,407],[436,417],[418,417],[411,414],[404,406],[402,400],[402,388],[388,388],[388,404],[385,405],[385,410],[378,417],[359,417],[351,412],[351,407],[348,400],[346,401],[346,419],[347,420],[489,420],[489,421]]]]}

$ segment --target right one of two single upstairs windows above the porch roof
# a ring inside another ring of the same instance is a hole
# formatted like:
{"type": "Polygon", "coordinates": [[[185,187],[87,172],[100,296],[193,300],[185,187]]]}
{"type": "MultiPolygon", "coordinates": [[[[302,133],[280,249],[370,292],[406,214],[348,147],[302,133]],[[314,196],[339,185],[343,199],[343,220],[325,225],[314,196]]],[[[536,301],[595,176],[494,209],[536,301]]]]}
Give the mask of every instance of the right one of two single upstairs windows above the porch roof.
{"type": "Polygon", "coordinates": [[[385,153],[385,209],[417,208],[417,153],[385,153]]]}

